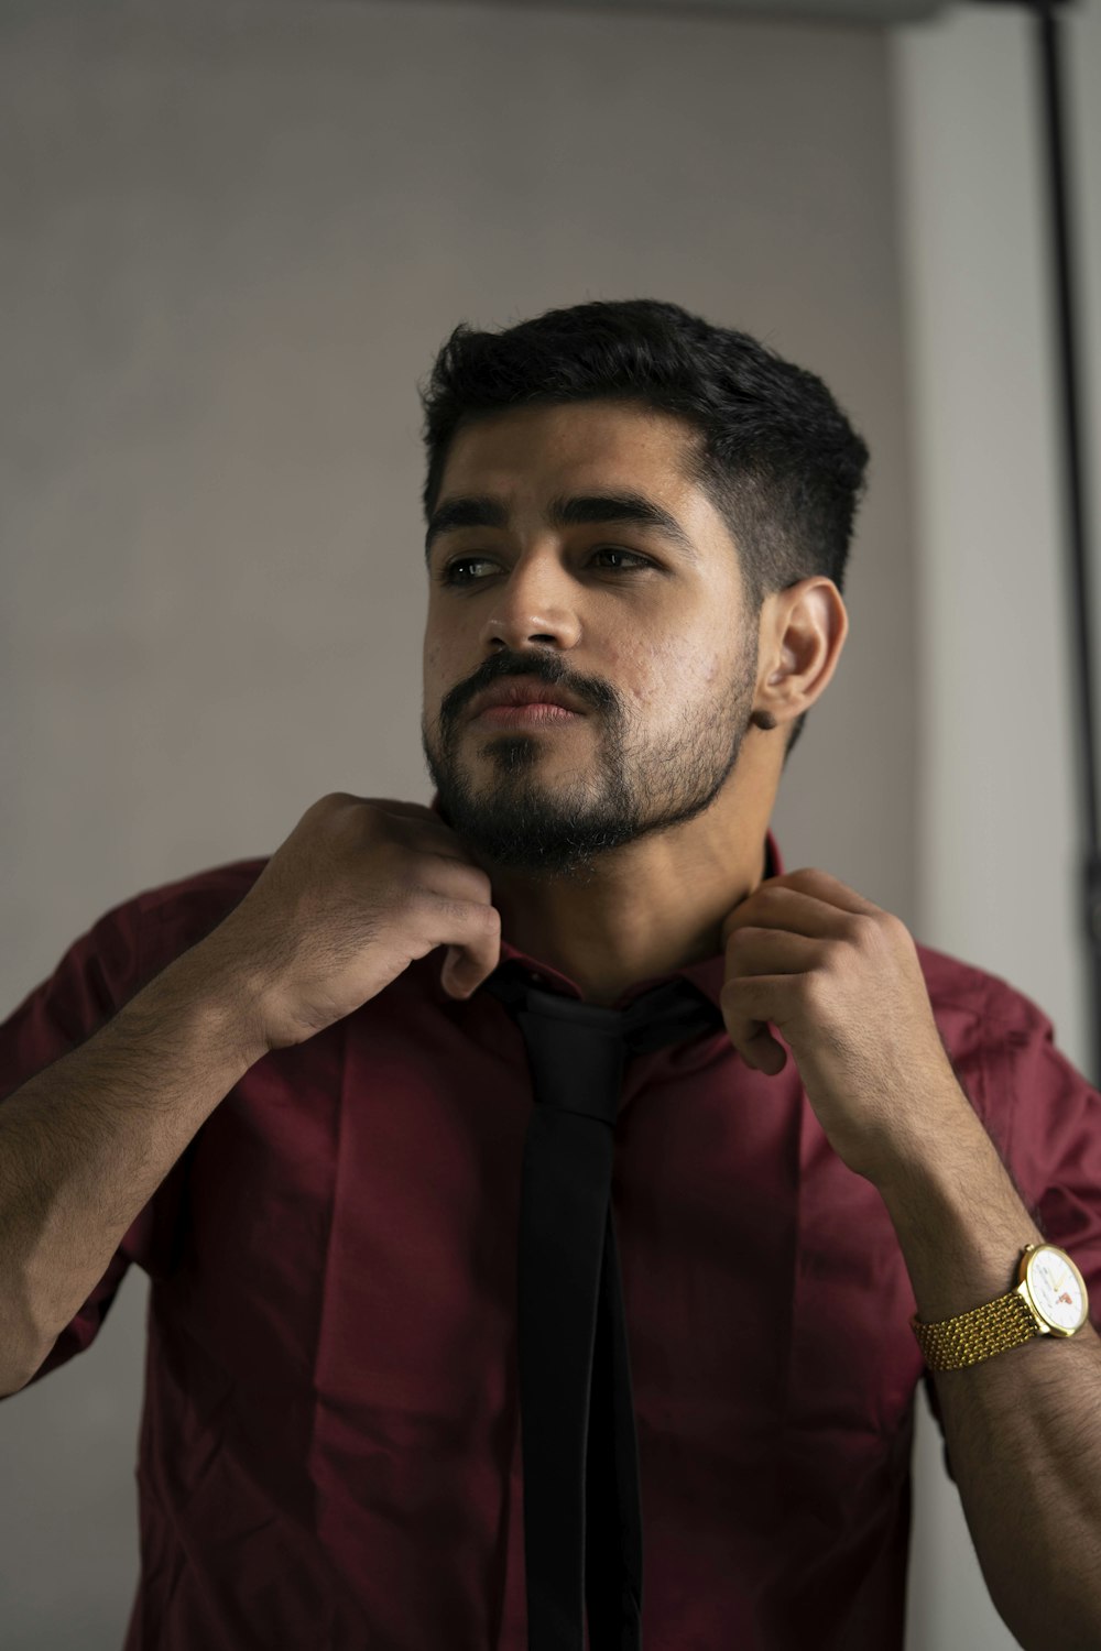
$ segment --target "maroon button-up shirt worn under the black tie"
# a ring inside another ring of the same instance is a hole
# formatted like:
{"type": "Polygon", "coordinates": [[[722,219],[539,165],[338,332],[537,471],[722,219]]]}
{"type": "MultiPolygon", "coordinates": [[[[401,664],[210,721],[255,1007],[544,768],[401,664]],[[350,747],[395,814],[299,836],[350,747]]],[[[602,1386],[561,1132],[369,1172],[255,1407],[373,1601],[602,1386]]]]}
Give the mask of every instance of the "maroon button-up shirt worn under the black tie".
{"type": "MultiPolygon", "coordinates": [[[[107,911],[0,1029],[0,1095],[208,934],[264,863],[107,911]]],[[[1028,997],[918,951],[972,1105],[1101,1301],[1101,1095],[1028,997]]],[[[132,1261],[149,1273],[125,1651],[527,1646],[515,1293],[532,1086],[505,1005],[449,999],[441,964],[431,953],[246,1073],[38,1372],[89,1346],[132,1261]]],[[[720,954],[677,972],[718,1002],[720,954]]],[[[774,1078],[725,1032],[631,1057],[614,1209],[647,1646],[900,1648],[914,1301],[883,1202],[827,1144],[791,1050],[774,1078]]]]}

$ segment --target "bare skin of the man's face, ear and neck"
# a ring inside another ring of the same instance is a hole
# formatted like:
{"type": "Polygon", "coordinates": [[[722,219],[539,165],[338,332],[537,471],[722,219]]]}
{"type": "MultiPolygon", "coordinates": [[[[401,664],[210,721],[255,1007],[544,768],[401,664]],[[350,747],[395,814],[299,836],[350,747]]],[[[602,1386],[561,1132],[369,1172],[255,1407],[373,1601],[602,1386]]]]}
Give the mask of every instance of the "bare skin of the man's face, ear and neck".
{"type": "Polygon", "coordinates": [[[510,939],[596,1004],[720,949],[723,918],[764,872],[787,725],[825,690],[848,627],[827,578],[746,614],[730,533],[683,474],[690,439],[631,404],[523,408],[461,431],[441,487],[441,504],[499,497],[510,525],[432,543],[429,773],[510,939]],[[669,510],[695,560],[654,527],[546,525],[555,495],[612,490],[669,510]],[[444,583],[461,558],[479,560],[444,583]],[[555,682],[586,715],[470,721],[502,674],[555,682]]]}

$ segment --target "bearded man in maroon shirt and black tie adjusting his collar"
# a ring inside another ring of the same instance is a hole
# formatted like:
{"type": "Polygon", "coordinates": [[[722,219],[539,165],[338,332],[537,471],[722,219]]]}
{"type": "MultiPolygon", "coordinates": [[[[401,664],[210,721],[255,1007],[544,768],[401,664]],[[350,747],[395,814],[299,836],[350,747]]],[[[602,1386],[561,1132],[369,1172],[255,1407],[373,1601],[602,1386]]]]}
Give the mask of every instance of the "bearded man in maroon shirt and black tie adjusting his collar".
{"type": "Polygon", "coordinates": [[[548,1113],[505,977],[563,1035],[673,982],[711,1015],[624,1060],[614,1116],[622,1644],[640,1605],[654,1651],[900,1646],[928,1369],[999,1611],[1101,1644],[1101,1096],[1035,1004],[768,826],[865,444],[650,300],[456,329],[424,401],[431,807],[322,797],[271,859],[107,913],[0,1032],[2,1390],[152,1278],[127,1651],[579,1651],[525,1555],[548,1113]]]}

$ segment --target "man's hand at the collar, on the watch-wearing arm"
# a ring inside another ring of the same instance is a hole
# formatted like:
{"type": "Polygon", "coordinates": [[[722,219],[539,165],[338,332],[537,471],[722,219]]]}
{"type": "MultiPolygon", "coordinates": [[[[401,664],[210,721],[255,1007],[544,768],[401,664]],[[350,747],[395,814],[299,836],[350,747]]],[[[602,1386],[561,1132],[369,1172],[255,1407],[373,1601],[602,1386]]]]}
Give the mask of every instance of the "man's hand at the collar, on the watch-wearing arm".
{"type": "Polygon", "coordinates": [[[918,949],[891,911],[829,872],[766,878],[725,918],[721,1010],[746,1062],[771,1076],[789,1043],[834,1151],[877,1182],[974,1113],[941,1042],[918,949]],[[961,1113],[961,1106],[964,1111],[961,1113]]]}

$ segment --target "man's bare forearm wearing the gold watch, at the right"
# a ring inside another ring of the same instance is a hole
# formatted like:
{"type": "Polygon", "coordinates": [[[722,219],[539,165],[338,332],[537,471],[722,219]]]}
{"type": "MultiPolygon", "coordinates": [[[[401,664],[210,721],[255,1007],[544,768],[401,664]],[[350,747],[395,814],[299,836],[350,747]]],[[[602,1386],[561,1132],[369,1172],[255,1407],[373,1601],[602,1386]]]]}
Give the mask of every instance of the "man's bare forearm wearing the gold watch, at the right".
{"type": "MultiPolygon", "coordinates": [[[[926,1322],[1004,1294],[1023,1247],[1043,1242],[962,1091],[946,1106],[936,1156],[880,1192],[926,1322]]],[[[1005,1623],[1027,1651],[1101,1646],[1096,1334],[1038,1336],[934,1380],[967,1526],[1005,1623]]]]}

